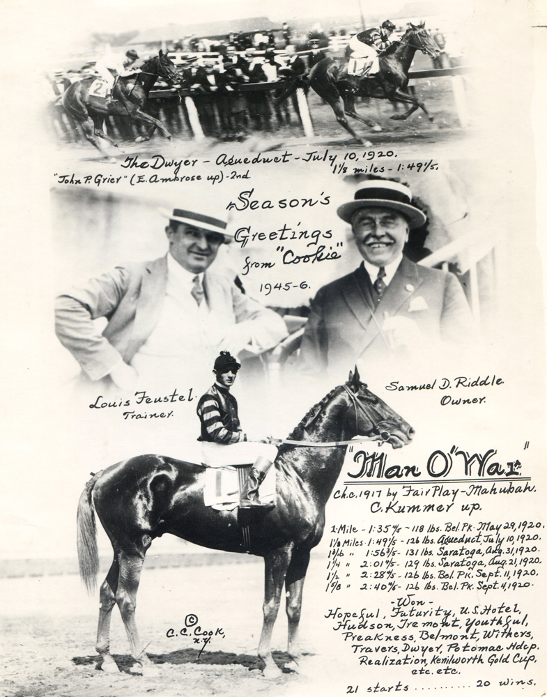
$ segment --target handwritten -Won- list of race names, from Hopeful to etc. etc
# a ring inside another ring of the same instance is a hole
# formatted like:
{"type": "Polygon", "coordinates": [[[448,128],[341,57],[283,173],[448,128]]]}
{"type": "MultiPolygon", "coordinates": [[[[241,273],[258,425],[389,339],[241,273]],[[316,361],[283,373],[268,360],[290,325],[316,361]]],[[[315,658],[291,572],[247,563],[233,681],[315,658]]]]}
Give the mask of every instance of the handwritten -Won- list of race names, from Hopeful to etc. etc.
{"type": "Polygon", "coordinates": [[[463,666],[507,664],[525,671],[538,645],[518,603],[456,611],[413,593],[391,609],[330,608],[332,631],[360,666],[407,666],[411,675],[456,675],[463,666]]]}

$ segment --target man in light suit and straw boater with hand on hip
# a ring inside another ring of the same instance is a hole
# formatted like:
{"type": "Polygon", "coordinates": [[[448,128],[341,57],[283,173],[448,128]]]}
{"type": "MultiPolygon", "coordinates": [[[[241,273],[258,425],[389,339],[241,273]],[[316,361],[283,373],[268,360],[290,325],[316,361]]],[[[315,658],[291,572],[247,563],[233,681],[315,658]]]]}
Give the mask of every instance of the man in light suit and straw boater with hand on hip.
{"type": "Polygon", "coordinates": [[[284,321],[211,270],[231,241],[225,211],[196,206],[161,210],[169,250],[145,263],[117,266],[56,300],[56,333],[84,381],[134,388],[180,378],[208,365],[219,349],[261,353],[286,336],[284,321]],[[94,320],[107,319],[102,332],[94,320]]]}

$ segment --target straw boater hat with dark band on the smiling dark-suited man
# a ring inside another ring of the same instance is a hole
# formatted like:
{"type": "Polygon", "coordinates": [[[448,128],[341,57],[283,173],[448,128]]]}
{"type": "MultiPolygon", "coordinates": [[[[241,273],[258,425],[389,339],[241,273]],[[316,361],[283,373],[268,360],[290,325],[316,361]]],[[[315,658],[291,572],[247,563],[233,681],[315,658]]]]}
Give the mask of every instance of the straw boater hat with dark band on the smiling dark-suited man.
{"type": "Polygon", "coordinates": [[[351,223],[351,217],[360,208],[392,208],[404,215],[410,229],[422,227],[427,218],[419,208],[412,204],[412,192],[404,184],[383,179],[370,179],[360,183],[353,201],[342,204],[337,213],[342,220],[351,223]]]}

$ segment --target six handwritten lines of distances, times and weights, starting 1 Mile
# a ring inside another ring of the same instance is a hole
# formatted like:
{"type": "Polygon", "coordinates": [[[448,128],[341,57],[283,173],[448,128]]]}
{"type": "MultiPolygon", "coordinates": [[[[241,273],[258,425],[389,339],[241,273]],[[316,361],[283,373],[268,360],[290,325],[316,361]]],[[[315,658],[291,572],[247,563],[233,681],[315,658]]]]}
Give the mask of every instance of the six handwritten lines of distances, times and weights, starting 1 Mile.
{"type": "MultiPolygon", "coordinates": [[[[446,521],[331,527],[327,592],[441,590],[488,594],[532,588],[541,565],[537,521],[446,521]]],[[[404,623],[403,623],[404,626],[404,623]]]]}

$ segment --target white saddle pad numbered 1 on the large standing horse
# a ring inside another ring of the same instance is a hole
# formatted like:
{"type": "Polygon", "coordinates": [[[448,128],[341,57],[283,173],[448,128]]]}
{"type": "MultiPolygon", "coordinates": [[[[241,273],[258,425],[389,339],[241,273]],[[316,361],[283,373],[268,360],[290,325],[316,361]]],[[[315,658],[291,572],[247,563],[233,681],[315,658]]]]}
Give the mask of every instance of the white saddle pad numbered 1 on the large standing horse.
{"type": "MultiPolygon", "coordinates": [[[[239,505],[240,491],[238,470],[247,477],[248,467],[208,467],[205,470],[203,503],[217,511],[231,511],[239,505]]],[[[275,501],[275,467],[268,470],[259,489],[259,496],[264,503],[275,501]]]]}

